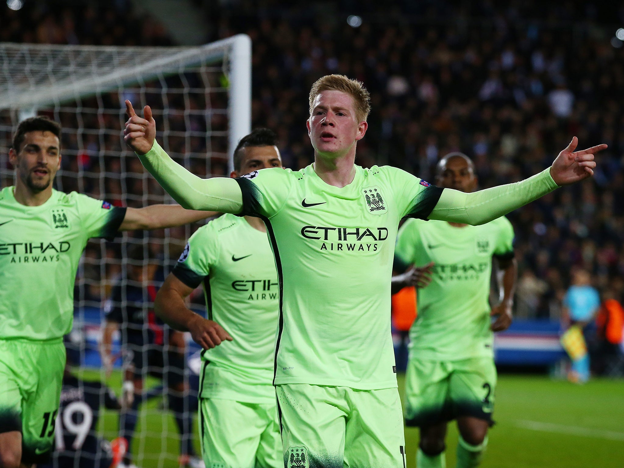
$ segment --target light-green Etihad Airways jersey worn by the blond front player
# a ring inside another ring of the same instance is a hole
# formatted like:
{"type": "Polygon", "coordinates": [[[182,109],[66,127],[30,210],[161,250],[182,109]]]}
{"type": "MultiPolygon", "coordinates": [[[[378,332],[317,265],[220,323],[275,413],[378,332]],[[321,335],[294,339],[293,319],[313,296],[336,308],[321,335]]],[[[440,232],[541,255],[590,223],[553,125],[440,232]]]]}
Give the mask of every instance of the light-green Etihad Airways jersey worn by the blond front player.
{"type": "Polygon", "coordinates": [[[281,283],[275,384],[396,387],[390,330],[399,220],[426,218],[442,189],[394,167],[356,166],[328,185],[310,165],[236,179],[263,218],[281,283]]]}

